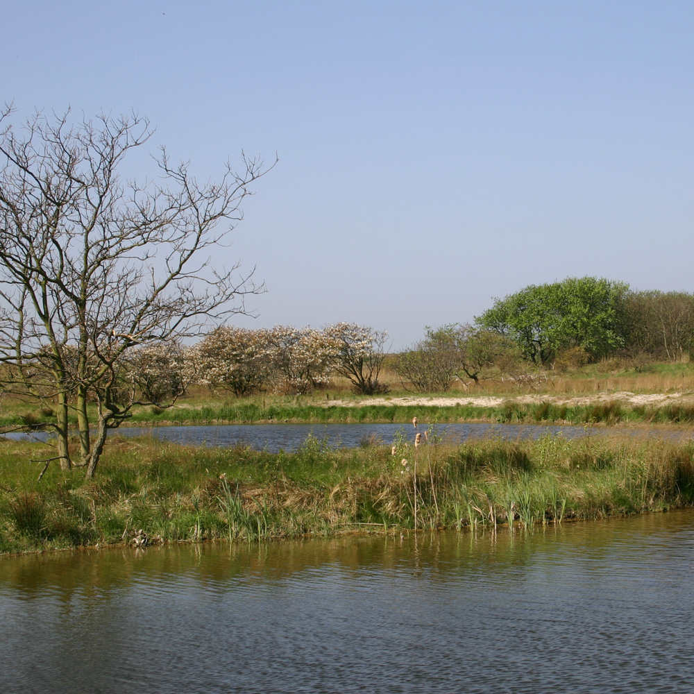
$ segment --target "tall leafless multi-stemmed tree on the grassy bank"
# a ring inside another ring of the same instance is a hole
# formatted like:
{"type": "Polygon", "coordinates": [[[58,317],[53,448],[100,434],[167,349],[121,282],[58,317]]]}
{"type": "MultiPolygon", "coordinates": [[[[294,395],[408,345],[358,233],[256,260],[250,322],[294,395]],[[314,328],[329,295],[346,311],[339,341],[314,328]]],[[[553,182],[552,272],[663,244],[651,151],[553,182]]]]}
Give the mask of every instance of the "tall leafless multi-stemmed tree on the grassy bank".
{"type": "Polygon", "coordinates": [[[11,113],[0,113],[0,360],[10,388],[51,402],[61,466],[85,465],[91,476],[107,430],[148,401],[132,384],[124,392],[130,350],[198,335],[262,291],[252,270],[215,269],[210,254],[268,168],[242,154],[240,172],[227,164],[219,183],[200,184],[162,149],[158,182],[124,182],[124,158],[151,137],[146,119],[37,114],[15,127],[11,113]]]}

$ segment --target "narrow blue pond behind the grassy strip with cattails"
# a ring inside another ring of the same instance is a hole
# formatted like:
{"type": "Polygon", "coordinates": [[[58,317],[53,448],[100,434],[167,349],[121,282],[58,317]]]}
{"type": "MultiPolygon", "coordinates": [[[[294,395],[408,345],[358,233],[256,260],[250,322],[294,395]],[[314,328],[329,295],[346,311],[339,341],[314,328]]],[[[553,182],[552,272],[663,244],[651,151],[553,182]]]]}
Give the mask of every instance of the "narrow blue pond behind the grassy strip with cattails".
{"type": "MultiPolygon", "coordinates": [[[[424,432],[426,424],[420,424],[417,431],[424,432]]],[[[443,435],[446,443],[460,443],[470,438],[499,437],[502,439],[525,439],[557,434],[567,438],[585,436],[602,430],[591,427],[556,425],[515,425],[452,423],[437,425],[436,430],[443,435]]],[[[189,446],[230,446],[247,445],[258,450],[266,448],[270,452],[296,450],[310,435],[325,441],[328,446],[353,448],[363,442],[393,443],[398,432],[414,435],[412,425],[403,424],[219,424],[189,425],[167,427],[124,427],[118,430],[123,436],[152,436],[161,441],[189,446]]],[[[115,432],[112,432],[113,435],[115,432]]],[[[15,439],[37,437],[45,440],[50,434],[5,434],[15,439]]]]}

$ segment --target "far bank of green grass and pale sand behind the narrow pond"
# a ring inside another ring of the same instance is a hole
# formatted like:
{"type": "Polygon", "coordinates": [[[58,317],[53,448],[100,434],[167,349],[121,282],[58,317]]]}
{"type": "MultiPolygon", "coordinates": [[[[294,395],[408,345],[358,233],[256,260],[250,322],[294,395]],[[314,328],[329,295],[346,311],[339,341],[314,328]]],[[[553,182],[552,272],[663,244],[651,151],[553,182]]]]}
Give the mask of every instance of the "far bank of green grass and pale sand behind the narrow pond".
{"type": "MultiPolygon", "coordinates": [[[[300,396],[299,396],[300,397],[300,396]]],[[[530,393],[505,396],[376,396],[371,398],[334,398],[307,401],[294,398],[227,400],[210,405],[180,403],[170,409],[153,412],[143,407],[121,427],[185,426],[273,423],[402,423],[417,416],[438,423],[548,423],[638,424],[694,426],[694,393],[603,392],[590,396],[530,393]]],[[[76,422],[71,422],[71,428],[76,422]]],[[[20,421],[0,426],[0,436],[19,432],[20,421]]],[[[50,421],[37,421],[34,431],[50,430],[50,421]]],[[[115,429],[114,431],[117,431],[115,429]]]]}

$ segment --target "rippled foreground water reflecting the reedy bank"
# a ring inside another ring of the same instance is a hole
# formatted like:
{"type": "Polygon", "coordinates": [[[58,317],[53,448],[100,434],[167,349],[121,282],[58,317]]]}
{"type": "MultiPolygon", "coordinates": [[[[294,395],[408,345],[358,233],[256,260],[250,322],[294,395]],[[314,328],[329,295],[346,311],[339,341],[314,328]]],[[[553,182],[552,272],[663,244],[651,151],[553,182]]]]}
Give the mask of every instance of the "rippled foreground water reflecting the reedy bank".
{"type": "Polygon", "coordinates": [[[0,560],[0,691],[693,691],[694,511],[0,560]]]}

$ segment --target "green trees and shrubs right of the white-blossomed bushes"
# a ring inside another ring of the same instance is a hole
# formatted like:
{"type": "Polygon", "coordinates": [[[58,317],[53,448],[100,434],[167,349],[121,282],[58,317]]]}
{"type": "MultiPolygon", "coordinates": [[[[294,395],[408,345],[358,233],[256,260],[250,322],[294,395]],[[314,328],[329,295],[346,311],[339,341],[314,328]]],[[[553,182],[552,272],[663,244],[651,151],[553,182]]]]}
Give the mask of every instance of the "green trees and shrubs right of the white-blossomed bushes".
{"type": "Polygon", "coordinates": [[[396,370],[418,391],[446,391],[483,375],[530,380],[538,369],[569,369],[620,357],[684,361],[694,354],[694,295],[633,291],[605,278],[530,285],[473,324],[426,328],[396,357],[396,370]]]}

